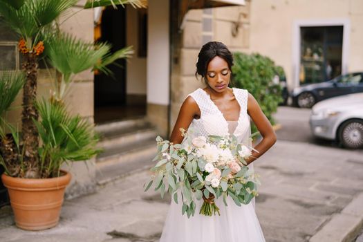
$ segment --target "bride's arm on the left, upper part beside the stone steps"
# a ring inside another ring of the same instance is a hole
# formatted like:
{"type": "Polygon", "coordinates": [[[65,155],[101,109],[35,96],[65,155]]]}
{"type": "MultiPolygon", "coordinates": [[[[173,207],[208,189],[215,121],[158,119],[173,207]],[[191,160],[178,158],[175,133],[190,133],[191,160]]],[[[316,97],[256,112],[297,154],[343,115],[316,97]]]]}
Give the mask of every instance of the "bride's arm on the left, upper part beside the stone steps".
{"type": "Polygon", "coordinates": [[[199,110],[198,104],[196,104],[196,101],[193,99],[193,97],[189,96],[185,99],[182,106],[180,107],[179,115],[176,119],[176,123],[174,125],[173,131],[171,132],[169,141],[173,142],[174,144],[180,144],[183,141],[180,128],[187,130],[195,116],[200,117],[201,111],[199,110]]]}

